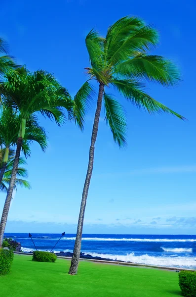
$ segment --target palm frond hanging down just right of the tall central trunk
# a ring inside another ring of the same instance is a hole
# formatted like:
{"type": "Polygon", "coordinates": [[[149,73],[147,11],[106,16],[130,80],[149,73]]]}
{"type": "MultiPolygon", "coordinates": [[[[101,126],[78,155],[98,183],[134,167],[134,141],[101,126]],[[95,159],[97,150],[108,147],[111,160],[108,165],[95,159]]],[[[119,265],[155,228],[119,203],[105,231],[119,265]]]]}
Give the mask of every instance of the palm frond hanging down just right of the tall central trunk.
{"type": "Polygon", "coordinates": [[[126,145],[126,118],[122,106],[112,95],[104,93],[106,121],[119,147],[126,145]]]}

